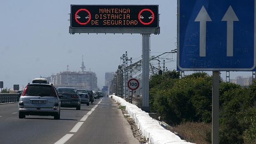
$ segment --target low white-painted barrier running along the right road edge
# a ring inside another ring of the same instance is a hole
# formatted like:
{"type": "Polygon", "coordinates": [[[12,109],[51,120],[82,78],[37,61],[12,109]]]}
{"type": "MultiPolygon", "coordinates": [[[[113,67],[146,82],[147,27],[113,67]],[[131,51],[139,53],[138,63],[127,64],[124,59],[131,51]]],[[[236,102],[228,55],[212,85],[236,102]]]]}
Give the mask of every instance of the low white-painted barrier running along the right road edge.
{"type": "Polygon", "coordinates": [[[173,132],[164,129],[157,120],[151,118],[148,113],[142,111],[134,104],[126,102],[126,100],[115,95],[110,95],[121,106],[126,106],[126,111],[133,118],[141,134],[146,137],[149,144],[192,144],[180,139],[173,132]]]}

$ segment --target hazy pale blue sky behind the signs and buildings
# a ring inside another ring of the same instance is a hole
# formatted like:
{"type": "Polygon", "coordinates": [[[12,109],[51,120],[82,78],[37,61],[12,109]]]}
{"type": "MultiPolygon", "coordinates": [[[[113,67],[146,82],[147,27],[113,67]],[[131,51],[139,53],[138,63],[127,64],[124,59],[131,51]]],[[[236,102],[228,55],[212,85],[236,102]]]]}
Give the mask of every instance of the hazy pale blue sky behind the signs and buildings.
{"type": "MultiPolygon", "coordinates": [[[[104,73],[116,71],[125,51],[133,62],[141,57],[140,34],[70,35],[71,4],[159,5],[161,33],[151,35],[151,55],[176,48],[176,0],[1,0],[0,81],[4,87],[26,86],[33,78],[65,71],[67,65],[70,71],[79,71],[84,55],[86,70],[97,74],[101,89],[104,73]]],[[[173,69],[176,62],[166,66],[173,69]]],[[[230,73],[231,78],[238,75],[251,76],[251,72],[230,73]]]]}

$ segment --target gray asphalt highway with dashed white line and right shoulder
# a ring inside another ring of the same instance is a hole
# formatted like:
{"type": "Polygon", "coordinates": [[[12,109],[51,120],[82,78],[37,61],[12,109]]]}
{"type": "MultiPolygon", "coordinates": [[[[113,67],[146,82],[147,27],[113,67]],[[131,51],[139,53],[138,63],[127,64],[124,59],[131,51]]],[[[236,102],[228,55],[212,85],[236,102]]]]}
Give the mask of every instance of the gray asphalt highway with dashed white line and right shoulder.
{"type": "Polygon", "coordinates": [[[0,105],[1,144],[140,144],[118,105],[104,97],[81,110],[62,108],[52,116],[19,119],[18,104],[0,105]]]}

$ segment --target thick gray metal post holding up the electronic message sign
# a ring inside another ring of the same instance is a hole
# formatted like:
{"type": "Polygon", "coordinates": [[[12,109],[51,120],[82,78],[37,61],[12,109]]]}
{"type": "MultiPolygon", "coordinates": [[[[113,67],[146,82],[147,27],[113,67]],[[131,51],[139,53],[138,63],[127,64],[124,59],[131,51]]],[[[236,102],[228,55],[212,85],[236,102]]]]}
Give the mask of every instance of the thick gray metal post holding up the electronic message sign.
{"type": "Polygon", "coordinates": [[[142,110],[149,112],[149,40],[150,34],[142,34],[142,110]]]}

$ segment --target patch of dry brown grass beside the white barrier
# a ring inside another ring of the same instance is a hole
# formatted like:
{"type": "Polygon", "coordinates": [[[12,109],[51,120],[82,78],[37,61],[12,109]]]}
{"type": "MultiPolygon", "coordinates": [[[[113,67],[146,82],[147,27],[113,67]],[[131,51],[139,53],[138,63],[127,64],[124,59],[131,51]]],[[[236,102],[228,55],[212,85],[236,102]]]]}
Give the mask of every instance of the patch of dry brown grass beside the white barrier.
{"type": "MultiPolygon", "coordinates": [[[[178,132],[187,142],[192,142],[196,144],[211,144],[207,142],[206,139],[211,139],[206,137],[206,133],[211,132],[210,123],[183,123],[181,125],[171,128],[172,132],[178,132]]],[[[211,133],[209,133],[211,134],[211,133]]]]}

